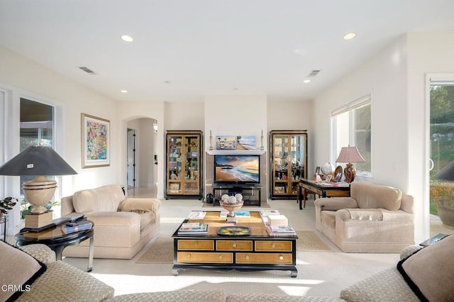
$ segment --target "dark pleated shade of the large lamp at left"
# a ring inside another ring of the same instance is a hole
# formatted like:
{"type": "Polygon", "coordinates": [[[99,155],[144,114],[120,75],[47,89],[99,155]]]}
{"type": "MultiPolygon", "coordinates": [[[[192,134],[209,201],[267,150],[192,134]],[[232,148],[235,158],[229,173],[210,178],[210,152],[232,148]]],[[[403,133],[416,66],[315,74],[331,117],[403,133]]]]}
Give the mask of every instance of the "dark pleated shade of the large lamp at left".
{"type": "Polygon", "coordinates": [[[77,172],[52,149],[31,146],[0,167],[0,175],[73,175],[77,172]]]}

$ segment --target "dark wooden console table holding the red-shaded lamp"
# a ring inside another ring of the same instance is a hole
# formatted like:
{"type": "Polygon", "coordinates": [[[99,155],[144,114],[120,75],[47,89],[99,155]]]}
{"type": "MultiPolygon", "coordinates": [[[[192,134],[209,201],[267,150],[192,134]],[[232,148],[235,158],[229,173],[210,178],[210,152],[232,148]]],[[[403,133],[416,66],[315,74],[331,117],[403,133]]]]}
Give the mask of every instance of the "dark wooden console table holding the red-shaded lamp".
{"type": "Polygon", "coordinates": [[[297,194],[297,201],[299,203],[299,209],[301,207],[301,199],[304,201],[304,208],[306,208],[306,196],[307,193],[315,193],[323,197],[342,197],[350,196],[350,185],[336,185],[326,182],[316,182],[309,179],[299,179],[299,189],[297,194]],[[304,190],[304,191],[303,191],[304,190]]]}

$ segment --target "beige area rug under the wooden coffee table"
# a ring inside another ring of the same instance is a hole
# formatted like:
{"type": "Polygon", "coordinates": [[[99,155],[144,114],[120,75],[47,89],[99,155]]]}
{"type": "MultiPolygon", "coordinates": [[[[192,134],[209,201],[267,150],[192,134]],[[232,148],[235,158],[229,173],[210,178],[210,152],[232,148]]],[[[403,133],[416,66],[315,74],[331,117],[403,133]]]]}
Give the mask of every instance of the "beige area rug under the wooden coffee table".
{"type": "MultiPolygon", "coordinates": [[[[329,251],[329,247],[321,241],[312,230],[297,230],[297,250],[299,251],[329,251]]],[[[159,237],[135,263],[172,263],[173,239],[159,237]]]]}

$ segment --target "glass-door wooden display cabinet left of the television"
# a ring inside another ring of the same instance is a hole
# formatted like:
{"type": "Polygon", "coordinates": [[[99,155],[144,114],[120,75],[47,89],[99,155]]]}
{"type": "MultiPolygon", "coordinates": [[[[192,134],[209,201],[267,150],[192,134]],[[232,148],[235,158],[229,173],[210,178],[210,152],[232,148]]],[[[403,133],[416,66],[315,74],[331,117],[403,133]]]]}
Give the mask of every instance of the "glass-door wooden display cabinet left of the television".
{"type": "Polygon", "coordinates": [[[165,198],[203,198],[202,132],[169,130],[166,145],[165,198]]]}

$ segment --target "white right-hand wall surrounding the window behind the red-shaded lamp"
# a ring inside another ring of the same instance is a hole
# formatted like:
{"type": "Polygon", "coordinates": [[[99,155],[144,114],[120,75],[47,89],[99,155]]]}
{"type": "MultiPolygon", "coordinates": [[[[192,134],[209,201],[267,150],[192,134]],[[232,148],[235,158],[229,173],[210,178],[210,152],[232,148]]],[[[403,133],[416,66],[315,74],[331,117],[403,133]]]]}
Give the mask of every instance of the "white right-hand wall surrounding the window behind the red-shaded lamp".
{"type": "Polygon", "coordinates": [[[453,72],[454,32],[410,33],[314,100],[314,164],[330,155],[329,121],[334,108],[372,93],[374,182],[397,186],[414,196],[415,238],[428,237],[428,155],[426,154],[427,72],[453,72]]]}

